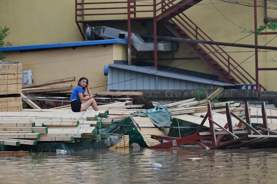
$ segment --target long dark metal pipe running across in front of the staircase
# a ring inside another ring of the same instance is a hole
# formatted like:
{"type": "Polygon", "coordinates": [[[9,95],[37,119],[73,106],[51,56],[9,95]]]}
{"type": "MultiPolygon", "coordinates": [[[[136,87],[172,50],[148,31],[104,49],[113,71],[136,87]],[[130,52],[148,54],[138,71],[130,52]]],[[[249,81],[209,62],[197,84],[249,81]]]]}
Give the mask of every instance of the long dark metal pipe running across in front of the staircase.
{"type": "MultiPolygon", "coordinates": [[[[153,38],[151,35],[141,35],[142,38],[153,38]]],[[[226,42],[215,42],[215,41],[206,41],[206,40],[196,40],[196,39],[185,39],[185,38],[174,38],[168,36],[157,36],[157,39],[164,41],[176,41],[176,42],[188,42],[195,44],[208,44],[208,45],[222,45],[229,47],[242,47],[242,48],[257,48],[257,49],[268,49],[268,50],[277,50],[277,47],[263,46],[263,45],[249,45],[249,44],[234,44],[226,42]]]]}

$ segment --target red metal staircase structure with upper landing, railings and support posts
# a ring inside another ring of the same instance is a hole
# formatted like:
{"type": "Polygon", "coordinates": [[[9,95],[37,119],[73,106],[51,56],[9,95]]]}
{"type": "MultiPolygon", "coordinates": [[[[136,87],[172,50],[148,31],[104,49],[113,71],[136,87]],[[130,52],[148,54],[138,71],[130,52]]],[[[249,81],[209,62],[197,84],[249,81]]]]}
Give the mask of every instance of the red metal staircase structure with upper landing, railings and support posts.
{"type": "MultiPolygon", "coordinates": [[[[131,35],[131,20],[152,20],[153,21],[153,52],[154,52],[154,66],[158,67],[158,36],[157,23],[166,27],[174,36],[181,39],[194,39],[213,41],[204,31],[202,31],[193,21],[191,21],[184,11],[196,5],[202,0],[122,0],[111,2],[99,2],[90,0],[84,2],[83,0],[75,0],[75,22],[85,40],[85,35],[79,23],[94,22],[93,20],[85,19],[89,16],[113,16],[113,15],[127,15],[128,35],[131,35]],[[140,4],[138,4],[139,2],[140,4]],[[142,4],[143,3],[143,4],[142,4]],[[112,7],[111,5],[114,4],[112,7]],[[110,6],[108,6],[110,5],[110,6]],[[87,6],[93,6],[87,7],[87,6]],[[139,8],[145,10],[138,10],[139,8]],[[149,8],[150,9],[147,9],[149,8]],[[99,13],[99,10],[102,11],[99,13]],[[125,11],[127,10],[127,12],[125,11]],[[93,11],[95,13],[85,13],[93,11]],[[104,11],[104,12],[103,12],[104,11]],[[138,16],[139,13],[153,13],[151,17],[138,16]],[[78,19],[79,18],[79,19],[78,19]],[[81,20],[80,20],[81,18],[81,20]]],[[[109,21],[109,20],[106,20],[109,21]]],[[[265,22],[272,21],[267,17],[266,0],[265,0],[265,22]]],[[[254,26],[257,30],[257,0],[254,0],[254,26]]],[[[277,32],[261,33],[260,35],[276,34],[277,32]]],[[[183,42],[194,54],[197,55],[204,63],[206,63],[224,82],[233,84],[256,84],[256,89],[259,89],[259,71],[262,70],[277,70],[277,68],[259,68],[258,67],[258,47],[255,48],[255,78],[251,76],[243,67],[241,63],[236,62],[228,53],[226,53],[216,43],[207,46],[207,44],[183,42]],[[213,46],[214,45],[214,46],[213,46]]],[[[258,35],[255,35],[255,45],[258,45],[258,35]]],[[[131,60],[131,46],[132,39],[128,37],[128,62],[132,64],[131,60]]],[[[265,87],[261,85],[263,90],[265,87]]]]}

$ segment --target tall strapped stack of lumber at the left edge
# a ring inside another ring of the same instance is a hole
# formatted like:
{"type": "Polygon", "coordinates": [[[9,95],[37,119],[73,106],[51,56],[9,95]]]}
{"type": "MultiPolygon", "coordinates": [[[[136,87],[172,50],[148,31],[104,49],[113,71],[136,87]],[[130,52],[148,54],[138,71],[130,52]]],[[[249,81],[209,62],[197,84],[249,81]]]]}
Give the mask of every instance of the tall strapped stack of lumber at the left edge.
{"type": "Polygon", "coordinates": [[[21,112],[23,109],[21,91],[22,64],[0,62],[0,112],[21,112]]]}

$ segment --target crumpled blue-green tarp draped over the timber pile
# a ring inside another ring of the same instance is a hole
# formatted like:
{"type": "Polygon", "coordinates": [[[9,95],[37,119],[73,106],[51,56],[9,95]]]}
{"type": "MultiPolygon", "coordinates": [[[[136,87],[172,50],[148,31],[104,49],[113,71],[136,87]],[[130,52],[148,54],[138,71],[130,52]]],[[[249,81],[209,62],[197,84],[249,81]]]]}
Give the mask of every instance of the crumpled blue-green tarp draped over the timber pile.
{"type": "Polygon", "coordinates": [[[137,111],[133,113],[140,117],[149,117],[151,122],[158,127],[170,127],[170,122],[173,118],[171,117],[171,110],[158,104],[156,108],[151,108],[146,111],[137,111]]]}

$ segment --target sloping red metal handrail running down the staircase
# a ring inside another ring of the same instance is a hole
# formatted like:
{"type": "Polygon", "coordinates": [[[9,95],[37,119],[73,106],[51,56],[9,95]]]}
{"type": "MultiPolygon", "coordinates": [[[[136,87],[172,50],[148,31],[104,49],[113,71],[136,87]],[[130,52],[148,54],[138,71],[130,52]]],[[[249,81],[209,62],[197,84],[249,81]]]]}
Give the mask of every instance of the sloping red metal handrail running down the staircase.
{"type": "MultiPolygon", "coordinates": [[[[188,33],[190,33],[191,35],[194,36],[194,38],[192,38],[192,39],[200,39],[200,40],[202,39],[202,40],[213,41],[203,30],[201,30],[184,13],[180,13],[173,19],[182,26],[182,30],[187,31],[188,33]],[[182,16],[185,17],[188,21],[186,21],[182,16]],[[183,22],[186,25],[184,25],[183,22]]],[[[241,67],[241,65],[238,62],[236,62],[228,53],[226,53],[220,46],[218,46],[218,45],[215,45],[215,46],[209,45],[208,46],[207,44],[203,44],[203,47],[205,47],[210,52],[208,54],[211,57],[215,57],[218,61],[221,62],[221,64],[223,64],[226,68],[228,68],[228,74],[229,74],[228,76],[229,77],[233,74],[238,79],[240,79],[241,82],[244,84],[246,84],[247,82],[253,83],[249,80],[249,78],[251,78],[253,81],[255,81],[255,78],[253,76],[251,76],[243,67],[241,67]],[[225,60],[225,62],[222,59],[225,60]],[[233,69],[231,70],[230,67],[233,67],[233,69]],[[246,75],[244,75],[239,69],[241,69],[246,75]],[[238,74],[241,75],[241,77],[238,74]],[[247,81],[247,82],[245,82],[245,81],[247,81]]],[[[263,86],[261,86],[261,87],[265,90],[265,88],[263,86]]]]}

